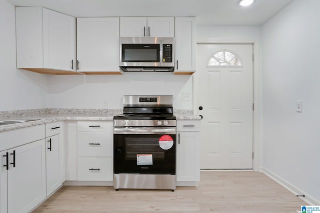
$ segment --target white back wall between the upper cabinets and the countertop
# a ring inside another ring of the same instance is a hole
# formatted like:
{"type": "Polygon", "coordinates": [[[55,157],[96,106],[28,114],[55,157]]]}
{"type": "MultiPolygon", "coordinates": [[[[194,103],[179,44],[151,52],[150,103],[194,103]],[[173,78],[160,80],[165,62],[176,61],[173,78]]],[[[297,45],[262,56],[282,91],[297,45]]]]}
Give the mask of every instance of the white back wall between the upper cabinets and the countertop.
{"type": "Polygon", "coordinates": [[[173,95],[174,109],[192,109],[192,76],[171,72],[48,76],[46,107],[121,109],[123,95],[173,95]],[[182,100],[182,92],[190,100],[182,100]]]}

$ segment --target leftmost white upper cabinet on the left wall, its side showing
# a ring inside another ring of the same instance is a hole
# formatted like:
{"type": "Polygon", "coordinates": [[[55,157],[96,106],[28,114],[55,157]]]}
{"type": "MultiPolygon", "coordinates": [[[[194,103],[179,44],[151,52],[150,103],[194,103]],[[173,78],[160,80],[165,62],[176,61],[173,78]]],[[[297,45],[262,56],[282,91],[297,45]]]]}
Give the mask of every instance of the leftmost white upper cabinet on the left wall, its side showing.
{"type": "Polygon", "coordinates": [[[17,6],[17,68],[47,74],[75,72],[75,18],[42,7],[17,6]]]}

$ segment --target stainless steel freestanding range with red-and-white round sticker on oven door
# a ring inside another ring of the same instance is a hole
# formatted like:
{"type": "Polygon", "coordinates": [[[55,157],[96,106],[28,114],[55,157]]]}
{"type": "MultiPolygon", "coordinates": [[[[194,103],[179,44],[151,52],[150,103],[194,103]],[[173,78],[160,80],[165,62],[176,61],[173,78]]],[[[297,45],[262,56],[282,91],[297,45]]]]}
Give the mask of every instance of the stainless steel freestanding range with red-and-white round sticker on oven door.
{"type": "Polygon", "coordinates": [[[175,189],[172,96],[123,97],[123,114],[113,117],[113,187],[175,189]]]}

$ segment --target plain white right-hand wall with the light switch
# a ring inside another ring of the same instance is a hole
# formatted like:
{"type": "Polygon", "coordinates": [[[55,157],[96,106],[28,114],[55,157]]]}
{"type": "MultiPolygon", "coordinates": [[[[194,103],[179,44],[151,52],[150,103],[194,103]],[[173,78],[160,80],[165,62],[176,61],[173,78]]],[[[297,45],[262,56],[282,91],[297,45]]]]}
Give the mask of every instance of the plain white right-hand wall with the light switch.
{"type": "Polygon", "coordinates": [[[294,0],[262,27],[263,166],[318,205],[319,9],[319,0],[294,0]]]}

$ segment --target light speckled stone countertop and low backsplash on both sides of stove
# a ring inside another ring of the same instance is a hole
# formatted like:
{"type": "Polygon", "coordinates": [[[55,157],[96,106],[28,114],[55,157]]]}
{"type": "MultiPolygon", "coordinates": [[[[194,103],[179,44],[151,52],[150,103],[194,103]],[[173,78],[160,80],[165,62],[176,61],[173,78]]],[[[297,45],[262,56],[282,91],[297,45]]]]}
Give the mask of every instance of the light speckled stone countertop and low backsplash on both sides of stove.
{"type": "MultiPolygon", "coordinates": [[[[0,126],[0,132],[65,120],[112,121],[122,110],[39,109],[0,112],[0,120],[34,120],[0,126]]],[[[177,120],[200,120],[191,110],[175,110],[177,120]]]]}

